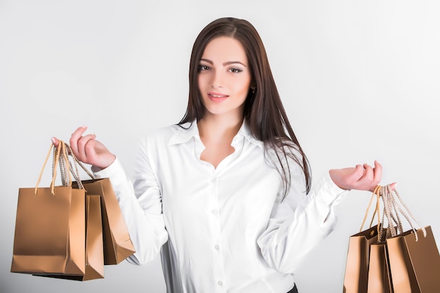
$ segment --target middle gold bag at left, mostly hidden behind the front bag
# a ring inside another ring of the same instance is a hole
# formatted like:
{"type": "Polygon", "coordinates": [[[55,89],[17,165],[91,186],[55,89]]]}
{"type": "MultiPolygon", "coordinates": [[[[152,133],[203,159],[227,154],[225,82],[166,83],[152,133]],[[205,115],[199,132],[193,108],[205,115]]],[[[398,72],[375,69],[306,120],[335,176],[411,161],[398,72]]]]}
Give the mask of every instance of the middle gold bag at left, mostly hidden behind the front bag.
{"type": "Polygon", "coordinates": [[[86,195],[86,268],[84,275],[34,274],[41,277],[67,280],[95,280],[104,278],[103,227],[99,195],[86,195]]]}

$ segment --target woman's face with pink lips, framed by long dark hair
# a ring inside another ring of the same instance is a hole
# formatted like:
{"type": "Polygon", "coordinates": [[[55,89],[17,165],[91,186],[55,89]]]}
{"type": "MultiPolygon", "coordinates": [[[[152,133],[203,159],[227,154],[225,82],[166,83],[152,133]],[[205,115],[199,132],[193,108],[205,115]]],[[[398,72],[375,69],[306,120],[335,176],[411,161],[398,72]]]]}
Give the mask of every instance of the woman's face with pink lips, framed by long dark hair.
{"type": "Polygon", "coordinates": [[[198,67],[198,88],[205,115],[243,115],[251,84],[251,72],[245,49],[231,37],[210,41],[198,67]]]}

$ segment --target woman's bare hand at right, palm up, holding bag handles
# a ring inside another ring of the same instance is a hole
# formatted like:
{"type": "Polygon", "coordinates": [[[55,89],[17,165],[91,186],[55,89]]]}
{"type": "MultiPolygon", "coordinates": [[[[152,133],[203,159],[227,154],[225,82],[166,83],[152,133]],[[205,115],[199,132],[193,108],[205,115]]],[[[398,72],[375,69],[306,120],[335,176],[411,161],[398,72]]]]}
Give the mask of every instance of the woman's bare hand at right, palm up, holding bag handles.
{"type": "MultiPolygon", "coordinates": [[[[375,167],[368,164],[356,165],[356,167],[331,169],[329,171],[332,181],[339,188],[346,190],[368,190],[373,192],[382,180],[382,165],[375,161],[375,167]]],[[[396,183],[392,183],[394,190],[396,183]]]]}

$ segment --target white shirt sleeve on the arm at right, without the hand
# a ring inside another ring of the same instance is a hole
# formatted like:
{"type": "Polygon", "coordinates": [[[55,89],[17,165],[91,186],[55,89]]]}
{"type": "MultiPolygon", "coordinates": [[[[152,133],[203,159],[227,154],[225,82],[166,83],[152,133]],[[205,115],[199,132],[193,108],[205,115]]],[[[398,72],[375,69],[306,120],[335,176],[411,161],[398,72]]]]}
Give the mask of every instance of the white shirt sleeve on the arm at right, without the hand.
{"type": "Polygon", "coordinates": [[[305,183],[299,169],[285,200],[277,197],[268,226],[257,240],[268,265],[281,273],[294,273],[304,256],[332,232],[337,222],[335,206],[348,193],[333,183],[330,174],[308,195],[301,190],[305,183]]]}

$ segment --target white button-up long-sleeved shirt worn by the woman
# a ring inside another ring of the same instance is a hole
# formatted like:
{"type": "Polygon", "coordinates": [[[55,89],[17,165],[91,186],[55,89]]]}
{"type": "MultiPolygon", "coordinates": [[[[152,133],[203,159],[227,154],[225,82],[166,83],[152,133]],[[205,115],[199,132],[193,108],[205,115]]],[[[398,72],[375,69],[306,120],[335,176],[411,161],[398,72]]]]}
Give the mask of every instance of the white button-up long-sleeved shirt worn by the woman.
{"type": "Polygon", "coordinates": [[[161,253],[170,293],[285,293],[295,268],[335,225],[345,194],[330,176],[304,194],[302,170],[291,162],[285,200],[278,172],[246,124],[233,154],[217,168],[200,160],[204,145],[194,122],[153,131],[136,155],[134,180],[118,159],[96,172],[117,194],[142,264],[161,253]]]}

